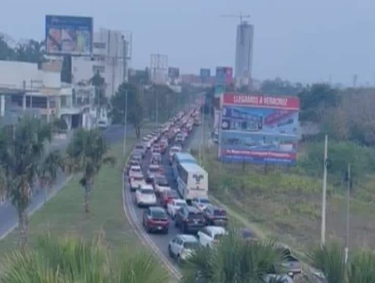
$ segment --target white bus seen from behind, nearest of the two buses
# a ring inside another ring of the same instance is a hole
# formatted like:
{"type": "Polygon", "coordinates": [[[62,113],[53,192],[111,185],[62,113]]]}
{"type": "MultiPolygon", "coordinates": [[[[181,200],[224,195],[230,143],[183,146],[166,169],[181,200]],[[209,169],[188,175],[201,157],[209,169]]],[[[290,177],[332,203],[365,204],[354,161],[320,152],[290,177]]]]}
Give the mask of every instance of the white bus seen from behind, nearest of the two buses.
{"type": "Polygon", "coordinates": [[[181,163],[177,170],[178,191],[184,200],[207,198],[209,180],[208,174],[203,168],[195,163],[181,163]]]}

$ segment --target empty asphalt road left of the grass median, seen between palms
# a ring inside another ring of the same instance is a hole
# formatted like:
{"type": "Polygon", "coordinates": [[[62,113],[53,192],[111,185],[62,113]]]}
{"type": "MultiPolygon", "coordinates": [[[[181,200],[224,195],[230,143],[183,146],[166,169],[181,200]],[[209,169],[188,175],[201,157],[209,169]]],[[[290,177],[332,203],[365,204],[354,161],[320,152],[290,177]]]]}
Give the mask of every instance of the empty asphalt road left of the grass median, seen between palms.
{"type": "MultiPolygon", "coordinates": [[[[133,127],[128,127],[127,133],[129,135],[135,135],[133,127]]],[[[117,143],[124,138],[124,128],[123,126],[110,126],[103,131],[103,134],[110,143],[117,143]]],[[[66,145],[67,143],[64,143],[62,141],[60,145],[54,145],[54,148],[60,148],[63,150],[66,145]]],[[[28,208],[29,213],[33,213],[34,211],[42,207],[46,200],[53,197],[55,193],[57,193],[64,187],[64,184],[67,180],[68,176],[61,172],[58,175],[55,184],[52,186],[52,188],[48,189],[47,192],[45,190],[41,190],[39,184],[35,184],[34,193],[31,199],[30,206],[28,208]]],[[[17,226],[17,223],[17,211],[10,203],[10,201],[6,201],[2,205],[0,205],[0,240],[4,238],[8,233],[13,231],[13,229],[17,226]]]]}

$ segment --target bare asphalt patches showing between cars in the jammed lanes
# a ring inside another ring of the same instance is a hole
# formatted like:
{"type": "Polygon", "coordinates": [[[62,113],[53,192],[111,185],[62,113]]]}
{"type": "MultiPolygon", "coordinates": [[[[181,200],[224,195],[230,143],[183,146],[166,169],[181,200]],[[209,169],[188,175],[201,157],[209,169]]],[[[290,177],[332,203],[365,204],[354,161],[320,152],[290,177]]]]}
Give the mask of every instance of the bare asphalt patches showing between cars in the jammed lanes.
{"type": "MultiPolygon", "coordinates": [[[[199,128],[201,128],[201,127],[199,127],[199,128]]],[[[193,131],[190,133],[188,138],[185,139],[185,142],[184,142],[184,145],[183,145],[184,151],[189,148],[189,146],[191,145],[193,140],[194,141],[198,140],[198,138],[196,138],[196,136],[200,134],[199,128],[194,126],[193,131]]],[[[166,150],[165,154],[162,154],[162,165],[164,167],[164,173],[165,173],[165,176],[168,180],[169,185],[171,186],[172,189],[177,190],[177,184],[173,180],[172,167],[169,165],[169,162],[168,162],[168,152],[169,152],[169,149],[173,145],[174,145],[174,142],[171,143],[168,146],[168,149],[166,150]]],[[[147,168],[148,168],[148,165],[150,163],[150,159],[151,159],[151,153],[150,153],[150,150],[148,150],[147,154],[145,155],[145,157],[143,159],[143,162],[142,162],[142,170],[143,170],[144,175],[146,175],[147,168]]],[[[135,211],[137,221],[138,221],[139,225],[141,226],[141,229],[143,229],[143,232],[146,233],[144,228],[142,227],[142,217],[143,217],[143,211],[145,210],[145,208],[139,208],[137,206],[135,192],[130,192],[128,183],[126,184],[125,190],[126,190],[125,193],[127,193],[127,196],[130,196],[131,203],[133,205],[132,209],[135,211]]],[[[170,217],[170,226],[169,226],[169,231],[168,231],[167,235],[160,234],[160,233],[150,233],[150,234],[147,234],[147,236],[158,247],[159,251],[163,254],[163,256],[165,258],[167,258],[175,268],[178,269],[177,262],[174,259],[170,258],[169,255],[168,255],[168,243],[177,234],[182,234],[182,233],[181,233],[180,229],[175,227],[174,220],[172,220],[172,218],[170,217]]]]}

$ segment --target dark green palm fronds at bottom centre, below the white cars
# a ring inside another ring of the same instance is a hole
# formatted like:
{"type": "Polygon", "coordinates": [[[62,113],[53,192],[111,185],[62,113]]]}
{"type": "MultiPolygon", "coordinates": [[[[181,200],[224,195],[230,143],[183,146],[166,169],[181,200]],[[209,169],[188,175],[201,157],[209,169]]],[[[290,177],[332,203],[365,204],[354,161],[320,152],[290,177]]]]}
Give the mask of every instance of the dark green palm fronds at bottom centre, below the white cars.
{"type": "Polygon", "coordinates": [[[222,237],[213,249],[203,247],[193,253],[184,268],[184,281],[263,282],[268,273],[282,271],[283,256],[272,240],[248,241],[235,230],[222,237]]]}

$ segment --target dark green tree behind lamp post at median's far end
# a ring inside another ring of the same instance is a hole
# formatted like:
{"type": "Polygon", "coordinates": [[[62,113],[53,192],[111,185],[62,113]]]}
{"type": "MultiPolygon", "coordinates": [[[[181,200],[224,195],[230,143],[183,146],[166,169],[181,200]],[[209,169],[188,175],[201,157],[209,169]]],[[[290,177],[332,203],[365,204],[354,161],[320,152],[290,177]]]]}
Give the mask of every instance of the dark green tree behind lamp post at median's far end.
{"type": "Polygon", "coordinates": [[[141,135],[143,122],[143,103],[140,90],[137,85],[122,83],[116,94],[111,97],[111,110],[109,116],[115,124],[125,123],[125,108],[127,95],[127,122],[131,123],[135,130],[137,138],[141,135]]]}

